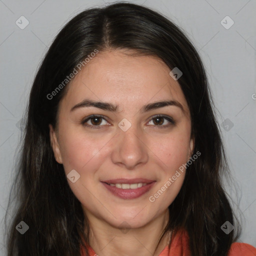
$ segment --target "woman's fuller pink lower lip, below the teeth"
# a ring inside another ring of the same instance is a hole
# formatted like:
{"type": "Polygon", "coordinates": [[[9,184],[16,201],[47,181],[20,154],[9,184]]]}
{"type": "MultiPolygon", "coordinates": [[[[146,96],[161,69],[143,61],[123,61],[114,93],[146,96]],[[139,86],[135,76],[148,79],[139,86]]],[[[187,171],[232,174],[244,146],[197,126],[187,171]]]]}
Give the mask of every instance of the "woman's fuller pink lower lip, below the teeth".
{"type": "Polygon", "coordinates": [[[144,186],[138,187],[138,188],[128,188],[128,189],[122,189],[117,188],[115,186],[110,186],[105,182],[102,182],[102,184],[114,195],[122,198],[122,199],[135,199],[142,194],[146,193],[155,183],[156,181],[153,181],[151,183],[148,183],[144,186]]]}

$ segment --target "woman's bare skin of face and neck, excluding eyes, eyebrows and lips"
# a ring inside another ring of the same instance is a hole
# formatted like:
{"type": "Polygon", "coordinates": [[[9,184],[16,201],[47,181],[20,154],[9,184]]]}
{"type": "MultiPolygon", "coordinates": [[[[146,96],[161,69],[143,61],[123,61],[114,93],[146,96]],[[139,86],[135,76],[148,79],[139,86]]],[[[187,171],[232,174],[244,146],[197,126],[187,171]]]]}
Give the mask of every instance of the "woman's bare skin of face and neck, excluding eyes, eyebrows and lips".
{"type": "MultiPolygon", "coordinates": [[[[188,161],[194,146],[188,105],[169,71],[157,57],[128,56],[124,50],[99,52],[68,85],[59,103],[56,129],[49,125],[56,161],[63,164],[66,175],[72,169],[80,174],[76,182],[67,181],[89,220],[90,246],[100,256],[151,256],[168,221],[168,205],[182,186],[185,171],[154,202],[149,201],[188,161]],[[91,106],[70,111],[85,98],[116,104],[118,111],[91,106]],[[175,105],[139,111],[162,100],[178,101],[183,111],[175,105]],[[81,124],[91,114],[106,117],[86,122],[98,124],[98,129],[81,124]],[[160,118],[161,127],[157,126],[155,114],[172,117],[175,123],[160,118]],[[126,131],[118,127],[123,118],[131,124],[126,131]],[[156,183],[135,199],[119,198],[100,182],[140,177],[156,183]]],[[[168,242],[164,237],[153,255],[168,242]]]]}

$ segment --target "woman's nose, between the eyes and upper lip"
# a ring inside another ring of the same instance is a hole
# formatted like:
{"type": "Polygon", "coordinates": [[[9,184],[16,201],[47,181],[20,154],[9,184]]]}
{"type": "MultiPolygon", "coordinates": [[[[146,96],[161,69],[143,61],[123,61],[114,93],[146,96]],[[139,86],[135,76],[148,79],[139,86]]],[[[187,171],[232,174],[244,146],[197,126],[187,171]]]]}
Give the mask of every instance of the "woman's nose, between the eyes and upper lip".
{"type": "Polygon", "coordinates": [[[145,164],[148,161],[148,148],[142,141],[142,132],[132,125],[126,131],[119,129],[117,133],[111,153],[112,162],[130,170],[145,164]]]}

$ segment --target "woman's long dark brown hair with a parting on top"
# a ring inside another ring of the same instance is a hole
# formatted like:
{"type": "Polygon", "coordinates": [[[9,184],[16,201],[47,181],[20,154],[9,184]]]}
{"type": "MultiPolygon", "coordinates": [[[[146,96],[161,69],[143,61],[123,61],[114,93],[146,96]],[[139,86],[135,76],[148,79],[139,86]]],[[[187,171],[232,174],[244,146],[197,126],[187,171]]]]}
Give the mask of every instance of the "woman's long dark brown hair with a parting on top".
{"type": "Polygon", "coordinates": [[[178,82],[190,110],[194,152],[201,155],[187,168],[183,185],[168,207],[169,222],[161,237],[169,230],[185,228],[192,256],[227,255],[238,237],[234,231],[239,225],[234,223],[221,183],[228,169],[200,57],[170,20],[149,8],[120,2],[87,9],[72,18],[57,34],[38,68],[8,203],[9,209],[13,195],[17,210],[8,229],[8,256],[78,256],[82,239],[89,244],[88,221],[62,164],[55,161],[49,139],[48,124],[56,126],[58,103],[67,85],[53,97],[49,95],[90,52],[108,48],[155,55],[170,69],[182,71],[178,82]],[[24,234],[15,229],[20,221],[29,226],[24,234]],[[235,226],[228,234],[221,230],[225,221],[235,226]]]}

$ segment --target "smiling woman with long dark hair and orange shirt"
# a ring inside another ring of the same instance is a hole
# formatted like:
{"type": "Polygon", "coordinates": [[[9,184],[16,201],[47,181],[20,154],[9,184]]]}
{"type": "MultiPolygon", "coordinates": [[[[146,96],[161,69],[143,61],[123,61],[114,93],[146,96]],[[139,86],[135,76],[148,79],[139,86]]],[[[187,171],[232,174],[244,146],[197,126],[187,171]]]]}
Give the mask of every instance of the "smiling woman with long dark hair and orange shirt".
{"type": "Polygon", "coordinates": [[[235,242],[201,60],[148,8],[88,9],[58,33],[19,166],[8,256],[256,254],[235,242]]]}

